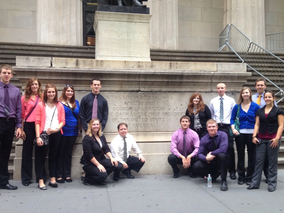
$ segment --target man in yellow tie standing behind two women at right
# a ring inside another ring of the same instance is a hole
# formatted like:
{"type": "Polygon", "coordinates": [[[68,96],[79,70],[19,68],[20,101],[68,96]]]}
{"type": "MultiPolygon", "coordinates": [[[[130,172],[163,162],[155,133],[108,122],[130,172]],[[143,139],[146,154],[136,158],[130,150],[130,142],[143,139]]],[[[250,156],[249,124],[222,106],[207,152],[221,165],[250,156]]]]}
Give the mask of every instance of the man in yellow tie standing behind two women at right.
{"type": "MultiPolygon", "coordinates": [[[[256,88],[257,93],[252,95],[252,101],[258,104],[260,108],[262,108],[266,105],[264,101],[264,90],[266,88],[266,80],[264,78],[257,79],[255,82],[255,88],[256,88]]],[[[277,106],[276,101],[274,102],[274,105],[277,106]]],[[[265,157],[265,160],[264,160],[263,173],[266,178],[265,183],[267,183],[267,175],[268,175],[267,156],[265,157]]]]}

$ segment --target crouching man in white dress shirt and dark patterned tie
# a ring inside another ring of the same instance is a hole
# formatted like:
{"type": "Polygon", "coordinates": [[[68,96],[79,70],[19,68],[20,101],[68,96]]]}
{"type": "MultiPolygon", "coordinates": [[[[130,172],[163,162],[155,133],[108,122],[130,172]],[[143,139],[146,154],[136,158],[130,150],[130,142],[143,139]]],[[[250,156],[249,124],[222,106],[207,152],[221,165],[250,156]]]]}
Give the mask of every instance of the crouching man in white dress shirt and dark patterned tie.
{"type": "MultiPolygon", "coordinates": [[[[110,143],[112,156],[117,160],[118,164],[122,164],[124,169],[122,174],[126,175],[126,178],[133,179],[135,177],[131,175],[131,170],[139,172],[145,163],[145,159],[133,136],[128,134],[127,124],[120,123],[117,129],[118,135],[110,143]],[[138,155],[138,158],[130,156],[131,150],[138,155]]],[[[113,180],[119,181],[119,172],[114,172],[113,180]]]]}

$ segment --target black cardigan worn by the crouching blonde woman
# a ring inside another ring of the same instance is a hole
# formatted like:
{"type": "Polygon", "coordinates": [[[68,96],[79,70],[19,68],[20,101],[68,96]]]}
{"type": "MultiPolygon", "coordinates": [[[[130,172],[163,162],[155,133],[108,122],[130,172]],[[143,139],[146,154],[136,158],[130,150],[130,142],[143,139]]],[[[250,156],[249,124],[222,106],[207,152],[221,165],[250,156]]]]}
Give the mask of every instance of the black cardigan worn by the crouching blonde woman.
{"type": "Polygon", "coordinates": [[[102,135],[100,139],[101,139],[102,148],[99,146],[97,140],[94,140],[89,135],[85,135],[82,141],[83,155],[81,157],[80,164],[84,164],[85,166],[93,164],[91,162],[91,159],[93,157],[95,157],[96,160],[99,163],[101,163],[101,159],[105,158],[104,154],[110,152],[109,146],[107,145],[106,138],[104,137],[104,135],[102,135]]]}

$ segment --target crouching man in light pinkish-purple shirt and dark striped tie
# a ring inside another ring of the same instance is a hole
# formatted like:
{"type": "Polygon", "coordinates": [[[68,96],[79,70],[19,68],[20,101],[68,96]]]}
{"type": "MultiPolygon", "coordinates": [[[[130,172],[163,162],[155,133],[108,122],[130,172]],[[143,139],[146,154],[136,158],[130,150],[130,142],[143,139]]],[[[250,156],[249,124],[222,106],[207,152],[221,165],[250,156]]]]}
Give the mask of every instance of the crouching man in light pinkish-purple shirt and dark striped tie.
{"type": "Polygon", "coordinates": [[[168,162],[174,172],[173,178],[179,177],[179,168],[177,164],[183,164],[183,168],[188,169],[189,177],[196,178],[192,170],[193,164],[197,161],[197,152],[199,149],[199,136],[196,132],[189,129],[190,119],[188,116],[180,118],[181,128],[172,134],[171,152],[168,162]],[[186,148],[183,149],[185,140],[186,148]]]}

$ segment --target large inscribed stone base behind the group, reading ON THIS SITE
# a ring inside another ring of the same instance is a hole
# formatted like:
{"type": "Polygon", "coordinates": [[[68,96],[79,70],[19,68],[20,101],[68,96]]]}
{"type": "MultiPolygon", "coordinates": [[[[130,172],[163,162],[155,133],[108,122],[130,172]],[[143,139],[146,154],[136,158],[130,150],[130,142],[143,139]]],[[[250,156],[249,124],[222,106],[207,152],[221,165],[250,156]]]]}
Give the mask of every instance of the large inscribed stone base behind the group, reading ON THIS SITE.
{"type": "MultiPolygon", "coordinates": [[[[141,175],[171,174],[167,162],[172,133],[180,128],[179,119],[185,114],[193,92],[201,92],[204,102],[217,96],[216,85],[224,82],[227,95],[235,98],[246,79],[246,64],[135,62],[91,59],[49,59],[17,57],[13,71],[24,88],[28,78],[37,76],[42,85],[54,83],[61,94],[66,84],[75,88],[78,101],[91,92],[91,79],[101,79],[103,95],[109,106],[109,119],[104,130],[111,142],[117,135],[117,124],[128,123],[142,150],[146,164],[141,175]],[[29,62],[28,62],[29,61],[29,62]],[[43,61],[42,65],[40,61],[43,61]],[[25,62],[25,63],[24,63],[25,62]],[[35,67],[36,66],[36,67],[35,67]],[[40,67],[42,66],[42,67],[40,67]]],[[[81,140],[77,139],[72,157],[72,177],[80,177],[81,140]]],[[[22,141],[16,146],[14,179],[20,180],[22,141]]],[[[135,172],[133,172],[135,174],[135,172]]]]}

